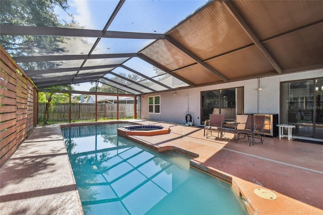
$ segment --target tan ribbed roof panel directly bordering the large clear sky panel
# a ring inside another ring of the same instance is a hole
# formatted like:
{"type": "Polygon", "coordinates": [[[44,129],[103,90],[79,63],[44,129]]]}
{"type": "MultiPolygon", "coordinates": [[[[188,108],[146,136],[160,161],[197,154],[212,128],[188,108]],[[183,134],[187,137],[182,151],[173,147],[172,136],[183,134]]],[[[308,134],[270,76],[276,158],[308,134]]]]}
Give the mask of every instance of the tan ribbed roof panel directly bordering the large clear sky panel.
{"type": "Polygon", "coordinates": [[[252,43],[220,2],[208,5],[169,35],[201,60],[252,43]]]}

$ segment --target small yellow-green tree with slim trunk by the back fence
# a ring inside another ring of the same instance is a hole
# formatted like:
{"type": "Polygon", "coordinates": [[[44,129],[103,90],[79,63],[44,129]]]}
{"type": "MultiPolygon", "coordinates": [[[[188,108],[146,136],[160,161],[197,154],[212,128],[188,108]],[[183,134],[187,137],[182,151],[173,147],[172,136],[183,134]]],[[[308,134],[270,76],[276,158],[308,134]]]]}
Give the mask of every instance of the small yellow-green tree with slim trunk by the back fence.
{"type": "Polygon", "coordinates": [[[39,102],[45,102],[44,124],[47,124],[48,110],[52,103],[66,102],[69,103],[68,93],[57,93],[60,90],[73,90],[70,85],[55,85],[45,88],[46,92],[39,92],[39,102]]]}

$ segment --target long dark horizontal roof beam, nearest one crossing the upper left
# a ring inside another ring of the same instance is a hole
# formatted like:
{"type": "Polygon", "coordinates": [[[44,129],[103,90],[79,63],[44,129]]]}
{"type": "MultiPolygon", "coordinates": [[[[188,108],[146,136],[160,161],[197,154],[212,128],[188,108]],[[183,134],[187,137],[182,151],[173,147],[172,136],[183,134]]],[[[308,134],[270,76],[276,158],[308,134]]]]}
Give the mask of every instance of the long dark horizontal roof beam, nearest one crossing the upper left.
{"type": "Polygon", "coordinates": [[[121,39],[164,39],[164,34],[54,28],[44,26],[17,26],[0,25],[0,35],[32,35],[32,36],[68,36],[68,37],[94,37],[94,38],[121,38],[121,39]]]}

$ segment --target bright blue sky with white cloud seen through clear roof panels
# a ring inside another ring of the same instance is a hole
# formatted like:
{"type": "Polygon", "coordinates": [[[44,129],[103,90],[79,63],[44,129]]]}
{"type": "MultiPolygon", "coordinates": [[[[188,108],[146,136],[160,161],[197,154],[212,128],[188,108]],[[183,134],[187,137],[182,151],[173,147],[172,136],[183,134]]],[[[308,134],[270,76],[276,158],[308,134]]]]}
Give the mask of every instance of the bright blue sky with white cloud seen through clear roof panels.
{"type": "MultiPolygon", "coordinates": [[[[166,33],[184,18],[203,6],[206,0],[127,0],[118,12],[108,31],[166,33]]],[[[79,25],[88,29],[102,30],[119,1],[103,0],[69,0],[68,13],[72,14],[79,25]]],[[[71,17],[59,9],[55,9],[60,20],[71,21],[71,17]]],[[[90,41],[90,40],[89,40],[90,41]]],[[[138,52],[153,40],[101,39],[93,54],[97,53],[130,53],[138,52]]],[[[130,61],[130,68],[142,68],[140,61],[130,61]],[[133,65],[132,65],[133,64],[133,65]]],[[[149,73],[150,71],[143,71],[149,73]]],[[[148,75],[149,76],[149,75],[148,75]]],[[[93,87],[90,83],[75,86],[76,90],[88,91],[93,87]]]]}

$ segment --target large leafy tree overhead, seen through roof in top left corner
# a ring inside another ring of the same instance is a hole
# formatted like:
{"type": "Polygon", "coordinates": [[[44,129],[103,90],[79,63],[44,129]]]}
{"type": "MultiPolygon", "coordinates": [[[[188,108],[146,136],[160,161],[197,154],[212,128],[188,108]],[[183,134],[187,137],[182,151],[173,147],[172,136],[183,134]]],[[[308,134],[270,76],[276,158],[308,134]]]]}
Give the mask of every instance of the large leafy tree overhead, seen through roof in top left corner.
{"type": "MultiPolygon", "coordinates": [[[[64,11],[69,8],[67,0],[1,0],[0,23],[3,25],[20,26],[47,26],[64,27],[71,25],[58,19],[54,13],[55,7],[64,11]]],[[[72,15],[70,15],[72,17],[72,15]]],[[[73,21],[72,21],[73,22],[73,21]]],[[[52,52],[62,52],[60,47],[63,37],[58,36],[25,36],[25,35],[1,35],[2,46],[12,57],[35,56],[52,52]]],[[[24,70],[40,70],[56,68],[59,65],[53,62],[21,63],[24,70]]]]}

